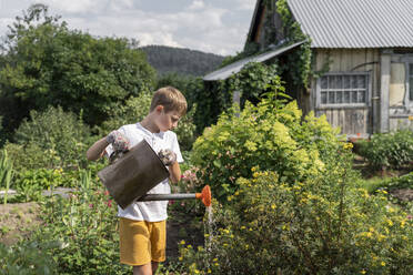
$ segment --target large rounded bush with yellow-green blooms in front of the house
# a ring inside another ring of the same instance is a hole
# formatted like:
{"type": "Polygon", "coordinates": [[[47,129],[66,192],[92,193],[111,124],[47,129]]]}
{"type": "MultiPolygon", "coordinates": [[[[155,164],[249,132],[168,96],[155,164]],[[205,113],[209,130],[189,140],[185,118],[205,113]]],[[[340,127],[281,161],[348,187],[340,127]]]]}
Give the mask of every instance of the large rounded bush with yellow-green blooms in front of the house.
{"type": "Polygon", "coordinates": [[[221,115],[194,143],[192,161],[220,202],[238,190],[238,177],[251,177],[253,167],[294,183],[319,174],[341,146],[325,116],[310,114],[302,121],[295,102],[278,100],[280,82],[272,89],[256,106],[248,102],[242,112],[221,115]]]}

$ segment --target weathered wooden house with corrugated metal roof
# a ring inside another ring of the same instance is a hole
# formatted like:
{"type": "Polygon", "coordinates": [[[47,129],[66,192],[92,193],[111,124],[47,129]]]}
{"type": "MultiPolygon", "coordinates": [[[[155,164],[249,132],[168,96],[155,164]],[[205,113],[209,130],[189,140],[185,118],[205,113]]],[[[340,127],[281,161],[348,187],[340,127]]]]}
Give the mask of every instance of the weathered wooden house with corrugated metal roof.
{"type": "MultiPolygon", "coordinates": [[[[246,43],[265,50],[268,35],[273,44],[285,39],[276,2],[256,1],[246,43]],[[272,33],[264,31],[269,20],[272,33]]],[[[312,77],[308,88],[298,89],[296,99],[305,112],[325,114],[349,138],[413,129],[412,0],[286,0],[286,4],[311,39],[312,70],[322,71],[329,64],[321,77],[312,77]]],[[[289,54],[291,48],[285,49],[266,52],[289,54]]],[[[219,79],[229,67],[204,80],[219,79]]]]}

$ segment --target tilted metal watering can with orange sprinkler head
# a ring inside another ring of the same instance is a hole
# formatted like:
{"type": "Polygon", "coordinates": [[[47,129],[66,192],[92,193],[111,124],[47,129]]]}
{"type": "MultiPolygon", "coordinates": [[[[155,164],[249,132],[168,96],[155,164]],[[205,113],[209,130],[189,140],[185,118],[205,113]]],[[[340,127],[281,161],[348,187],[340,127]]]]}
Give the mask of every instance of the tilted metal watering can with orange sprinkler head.
{"type": "Polygon", "coordinates": [[[145,140],[133,146],[114,163],[98,172],[98,176],[113,200],[124,210],[134,201],[201,200],[211,205],[209,185],[195,194],[147,194],[169,177],[169,171],[145,140]]]}

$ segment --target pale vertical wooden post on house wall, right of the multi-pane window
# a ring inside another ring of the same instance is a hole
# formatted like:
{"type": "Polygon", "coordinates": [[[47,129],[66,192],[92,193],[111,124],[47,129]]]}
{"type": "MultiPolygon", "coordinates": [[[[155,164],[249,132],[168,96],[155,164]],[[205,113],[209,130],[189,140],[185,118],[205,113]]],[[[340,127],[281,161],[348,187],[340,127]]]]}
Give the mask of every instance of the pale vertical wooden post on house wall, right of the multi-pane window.
{"type": "Polygon", "coordinates": [[[391,52],[383,51],[380,57],[380,132],[389,132],[389,92],[390,92],[391,52]]]}

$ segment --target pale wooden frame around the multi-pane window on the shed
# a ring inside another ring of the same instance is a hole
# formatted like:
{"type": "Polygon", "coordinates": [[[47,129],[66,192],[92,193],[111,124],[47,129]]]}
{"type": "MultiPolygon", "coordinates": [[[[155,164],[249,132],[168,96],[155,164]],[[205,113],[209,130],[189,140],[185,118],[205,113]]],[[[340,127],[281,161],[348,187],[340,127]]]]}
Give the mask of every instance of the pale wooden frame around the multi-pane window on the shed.
{"type": "Polygon", "coordinates": [[[372,73],[370,71],[355,71],[355,72],[326,72],[320,77],[316,81],[316,92],[315,92],[315,108],[318,109],[349,109],[349,108],[369,108],[371,105],[371,94],[372,94],[372,73]],[[366,91],[365,91],[365,102],[364,103],[321,103],[321,79],[323,77],[345,77],[345,75],[364,75],[366,77],[366,91]]]}

